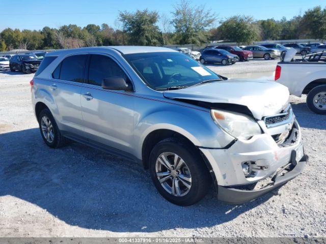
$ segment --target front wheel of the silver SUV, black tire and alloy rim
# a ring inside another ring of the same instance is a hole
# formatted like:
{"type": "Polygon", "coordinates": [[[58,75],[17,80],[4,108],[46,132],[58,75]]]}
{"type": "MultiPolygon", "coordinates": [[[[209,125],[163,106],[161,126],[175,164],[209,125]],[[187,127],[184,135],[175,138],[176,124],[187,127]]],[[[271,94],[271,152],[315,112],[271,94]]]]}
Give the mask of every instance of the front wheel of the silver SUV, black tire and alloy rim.
{"type": "Polygon", "coordinates": [[[192,205],[209,190],[211,177],[191,145],[174,138],[162,140],[152,149],[149,163],[157,191],[176,205],[192,205]]]}

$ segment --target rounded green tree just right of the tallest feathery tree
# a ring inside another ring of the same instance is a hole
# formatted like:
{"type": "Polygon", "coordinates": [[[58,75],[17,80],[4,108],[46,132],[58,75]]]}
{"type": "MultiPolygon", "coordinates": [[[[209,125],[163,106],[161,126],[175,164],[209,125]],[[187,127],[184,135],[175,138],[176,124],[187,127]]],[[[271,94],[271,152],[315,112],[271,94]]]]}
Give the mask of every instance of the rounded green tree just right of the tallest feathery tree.
{"type": "Polygon", "coordinates": [[[232,16],[221,22],[219,29],[224,40],[239,44],[250,44],[259,37],[259,27],[250,16],[232,16]]]}

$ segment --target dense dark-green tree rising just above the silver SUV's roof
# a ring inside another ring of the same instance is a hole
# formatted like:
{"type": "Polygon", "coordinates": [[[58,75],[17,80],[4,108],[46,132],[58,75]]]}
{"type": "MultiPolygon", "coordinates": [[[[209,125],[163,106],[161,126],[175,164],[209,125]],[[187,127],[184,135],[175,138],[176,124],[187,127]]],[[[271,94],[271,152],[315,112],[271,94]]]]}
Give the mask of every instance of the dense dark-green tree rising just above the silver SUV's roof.
{"type": "Polygon", "coordinates": [[[157,46],[162,43],[162,34],[156,25],[158,13],[145,9],[135,13],[120,12],[119,20],[123,31],[128,34],[129,43],[141,46],[157,46]]]}

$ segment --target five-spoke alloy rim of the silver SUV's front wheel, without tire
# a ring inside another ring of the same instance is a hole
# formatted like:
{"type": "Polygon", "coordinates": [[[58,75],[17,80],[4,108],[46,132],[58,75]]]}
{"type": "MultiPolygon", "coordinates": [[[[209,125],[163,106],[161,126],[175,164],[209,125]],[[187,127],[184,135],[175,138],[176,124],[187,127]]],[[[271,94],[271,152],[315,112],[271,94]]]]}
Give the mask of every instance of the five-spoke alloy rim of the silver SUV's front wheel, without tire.
{"type": "Polygon", "coordinates": [[[173,196],[185,196],[192,187],[188,166],[174,153],[160,154],[155,163],[155,172],[162,188],[173,196]]]}

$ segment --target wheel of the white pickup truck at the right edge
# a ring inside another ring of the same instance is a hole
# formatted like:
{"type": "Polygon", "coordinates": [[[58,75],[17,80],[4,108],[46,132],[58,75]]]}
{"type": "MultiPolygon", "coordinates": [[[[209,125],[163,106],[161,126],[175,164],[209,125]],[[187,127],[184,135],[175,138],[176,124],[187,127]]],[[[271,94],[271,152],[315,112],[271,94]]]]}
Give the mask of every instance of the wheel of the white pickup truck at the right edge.
{"type": "Polygon", "coordinates": [[[308,108],[318,114],[326,114],[326,85],[313,88],[307,96],[308,108]]]}

